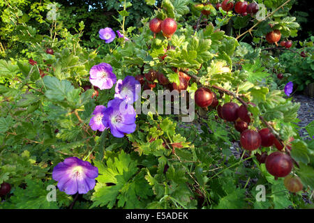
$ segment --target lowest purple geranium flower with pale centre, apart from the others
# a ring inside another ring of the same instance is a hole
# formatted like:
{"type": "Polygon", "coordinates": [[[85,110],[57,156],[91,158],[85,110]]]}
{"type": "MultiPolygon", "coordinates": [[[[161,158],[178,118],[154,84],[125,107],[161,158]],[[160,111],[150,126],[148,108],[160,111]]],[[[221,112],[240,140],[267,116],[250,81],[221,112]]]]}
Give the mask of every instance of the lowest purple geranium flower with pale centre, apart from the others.
{"type": "Polygon", "coordinates": [[[77,157],[59,162],[52,171],[52,179],[58,181],[59,190],[66,194],[87,194],[96,185],[98,168],[77,157]]]}

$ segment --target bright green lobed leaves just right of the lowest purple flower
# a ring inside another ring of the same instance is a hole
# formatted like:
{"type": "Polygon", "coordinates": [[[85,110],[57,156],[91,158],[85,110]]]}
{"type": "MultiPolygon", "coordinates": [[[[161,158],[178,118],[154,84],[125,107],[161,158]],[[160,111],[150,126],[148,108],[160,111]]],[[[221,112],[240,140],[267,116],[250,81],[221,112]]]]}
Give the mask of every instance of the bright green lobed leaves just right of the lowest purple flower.
{"type": "MultiPolygon", "coordinates": [[[[116,201],[120,208],[144,208],[146,199],[151,195],[149,185],[144,180],[144,172],[137,173],[137,164],[130,155],[122,151],[118,157],[107,160],[106,166],[95,162],[99,169],[95,192],[91,197],[93,206],[112,208],[116,201]],[[137,174],[136,174],[137,173],[137,174]],[[107,183],[113,183],[107,186],[107,183]]],[[[93,207],[92,206],[92,207],[93,207]]]]}

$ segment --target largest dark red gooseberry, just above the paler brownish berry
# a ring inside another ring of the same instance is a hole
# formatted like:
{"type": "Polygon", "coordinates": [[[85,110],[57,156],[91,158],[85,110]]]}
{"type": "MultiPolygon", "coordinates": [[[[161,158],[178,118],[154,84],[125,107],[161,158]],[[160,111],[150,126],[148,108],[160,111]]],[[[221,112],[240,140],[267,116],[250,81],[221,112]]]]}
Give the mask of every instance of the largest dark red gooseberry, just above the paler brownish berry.
{"type": "Polygon", "coordinates": [[[292,159],[290,155],[282,152],[271,153],[265,162],[269,174],[276,177],[284,177],[290,174],[292,170],[292,159]]]}

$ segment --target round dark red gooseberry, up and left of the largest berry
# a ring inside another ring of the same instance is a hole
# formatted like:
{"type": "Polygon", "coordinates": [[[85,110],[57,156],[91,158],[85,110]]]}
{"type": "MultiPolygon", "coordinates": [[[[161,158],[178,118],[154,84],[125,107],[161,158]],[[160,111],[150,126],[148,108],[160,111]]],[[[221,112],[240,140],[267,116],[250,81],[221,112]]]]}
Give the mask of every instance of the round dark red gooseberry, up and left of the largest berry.
{"type": "Polygon", "coordinates": [[[255,151],[255,149],[260,147],[261,142],[260,134],[254,130],[245,130],[240,135],[241,146],[246,151],[255,151]]]}

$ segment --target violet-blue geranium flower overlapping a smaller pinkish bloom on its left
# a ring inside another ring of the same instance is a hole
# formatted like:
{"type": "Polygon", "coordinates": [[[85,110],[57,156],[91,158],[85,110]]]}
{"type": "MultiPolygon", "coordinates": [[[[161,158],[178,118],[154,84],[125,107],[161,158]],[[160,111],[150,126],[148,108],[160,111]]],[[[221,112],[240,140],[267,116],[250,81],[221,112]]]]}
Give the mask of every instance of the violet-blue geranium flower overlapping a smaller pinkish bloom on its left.
{"type": "Polygon", "coordinates": [[[103,124],[110,128],[114,137],[122,138],[124,133],[135,131],[135,110],[125,100],[115,98],[110,100],[103,116],[103,124]]]}

